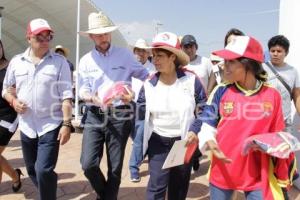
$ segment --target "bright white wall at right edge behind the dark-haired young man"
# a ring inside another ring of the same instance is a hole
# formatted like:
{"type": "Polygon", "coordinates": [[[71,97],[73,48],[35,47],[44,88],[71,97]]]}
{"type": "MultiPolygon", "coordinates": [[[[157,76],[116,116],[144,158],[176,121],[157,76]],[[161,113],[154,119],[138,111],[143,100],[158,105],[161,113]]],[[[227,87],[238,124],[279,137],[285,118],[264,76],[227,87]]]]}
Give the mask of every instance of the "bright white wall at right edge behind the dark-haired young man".
{"type": "MultiPolygon", "coordinates": [[[[299,0],[281,0],[279,12],[279,33],[285,35],[290,40],[290,51],[286,61],[292,66],[296,67],[300,74],[300,1],[299,0]]],[[[293,107],[294,113],[295,108],[293,107]]],[[[298,114],[294,115],[294,127],[300,126],[300,117],[298,114]]],[[[300,140],[300,132],[295,131],[294,135],[300,140]]],[[[300,170],[300,152],[296,153],[298,170],[300,170]]],[[[295,181],[295,186],[300,189],[300,179],[295,181]]]]}

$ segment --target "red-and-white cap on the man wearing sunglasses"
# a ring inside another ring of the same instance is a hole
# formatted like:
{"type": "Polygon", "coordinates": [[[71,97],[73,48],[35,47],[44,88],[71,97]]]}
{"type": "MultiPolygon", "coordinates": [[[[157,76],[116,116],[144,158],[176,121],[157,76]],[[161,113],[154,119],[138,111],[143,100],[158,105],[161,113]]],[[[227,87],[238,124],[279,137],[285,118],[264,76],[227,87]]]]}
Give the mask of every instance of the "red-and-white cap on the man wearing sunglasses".
{"type": "Polygon", "coordinates": [[[49,26],[48,22],[44,19],[37,18],[33,19],[28,23],[27,26],[27,36],[37,35],[42,31],[53,32],[52,28],[49,26]]]}

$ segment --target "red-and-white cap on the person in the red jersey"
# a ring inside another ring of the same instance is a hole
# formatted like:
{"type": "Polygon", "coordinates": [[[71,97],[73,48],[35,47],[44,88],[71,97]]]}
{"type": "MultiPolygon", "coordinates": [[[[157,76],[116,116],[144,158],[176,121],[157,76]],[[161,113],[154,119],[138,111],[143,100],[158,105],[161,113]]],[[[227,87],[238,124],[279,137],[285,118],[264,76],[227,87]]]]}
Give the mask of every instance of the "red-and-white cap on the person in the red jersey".
{"type": "Polygon", "coordinates": [[[223,50],[214,51],[225,60],[234,60],[245,57],[258,62],[264,61],[263,49],[260,43],[250,36],[236,36],[223,50]]]}

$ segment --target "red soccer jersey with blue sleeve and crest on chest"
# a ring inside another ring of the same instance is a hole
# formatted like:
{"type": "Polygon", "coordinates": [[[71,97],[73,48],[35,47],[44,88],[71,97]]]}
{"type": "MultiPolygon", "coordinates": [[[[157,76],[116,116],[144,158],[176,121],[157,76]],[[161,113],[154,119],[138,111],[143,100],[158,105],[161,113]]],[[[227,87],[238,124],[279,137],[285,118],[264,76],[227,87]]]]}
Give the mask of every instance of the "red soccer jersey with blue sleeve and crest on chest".
{"type": "MultiPolygon", "coordinates": [[[[242,148],[249,136],[284,129],[281,97],[276,89],[263,83],[251,91],[244,90],[238,84],[219,85],[208,99],[201,120],[216,128],[220,149],[232,159],[232,163],[225,164],[212,158],[209,177],[212,184],[223,189],[243,191],[269,186],[270,157],[257,151],[242,155],[242,148]],[[267,182],[264,183],[265,180],[267,182]]],[[[284,176],[276,177],[279,179],[289,178],[288,172],[275,174],[284,176]]]]}

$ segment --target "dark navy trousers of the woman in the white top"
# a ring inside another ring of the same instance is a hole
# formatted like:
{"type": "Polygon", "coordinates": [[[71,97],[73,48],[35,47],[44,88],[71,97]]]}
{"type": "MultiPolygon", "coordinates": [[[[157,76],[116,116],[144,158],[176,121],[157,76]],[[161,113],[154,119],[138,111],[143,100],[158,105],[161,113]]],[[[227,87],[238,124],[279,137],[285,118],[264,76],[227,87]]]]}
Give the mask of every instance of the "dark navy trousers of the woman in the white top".
{"type": "Polygon", "coordinates": [[[169,200],[184,200],[189,188],[191,163],[162,169],[169,151],[179,138],[168,138],[152,133],[148,143],[150,179],[147,200],[164,200],[168,189],[169,200]]]}

